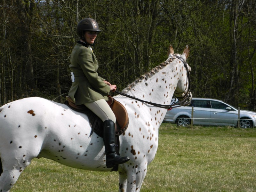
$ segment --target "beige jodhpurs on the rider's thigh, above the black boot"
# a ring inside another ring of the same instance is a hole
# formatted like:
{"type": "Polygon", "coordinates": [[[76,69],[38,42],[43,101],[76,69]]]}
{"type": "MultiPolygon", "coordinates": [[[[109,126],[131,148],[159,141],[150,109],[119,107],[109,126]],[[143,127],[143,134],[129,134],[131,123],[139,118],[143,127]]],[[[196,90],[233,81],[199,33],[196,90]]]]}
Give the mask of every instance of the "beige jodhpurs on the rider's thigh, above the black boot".
{"type": "Polygon", "coordinates": [[[110,119],[116,123],[116,116],[105,99],[84,103],[84,105],[100,117],[103,122],[110,119]]]}

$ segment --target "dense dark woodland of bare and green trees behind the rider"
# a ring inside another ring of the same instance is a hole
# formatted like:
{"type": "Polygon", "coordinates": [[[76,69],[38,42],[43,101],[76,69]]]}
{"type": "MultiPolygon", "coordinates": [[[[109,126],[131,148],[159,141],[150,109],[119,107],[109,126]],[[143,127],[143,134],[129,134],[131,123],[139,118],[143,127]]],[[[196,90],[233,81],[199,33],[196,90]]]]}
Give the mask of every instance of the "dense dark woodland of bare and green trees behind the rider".
{"type": "Polygon", "coordinates": [[[122,90],[166,60],[169,44],[190,47],[194,97],[256,110],[254,0],[2,0],[0,101],[40,96],[63,102],[77,20],[102,32],[99,74],[122,90]]]}

